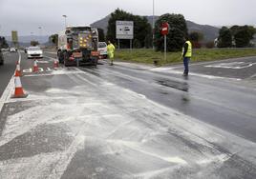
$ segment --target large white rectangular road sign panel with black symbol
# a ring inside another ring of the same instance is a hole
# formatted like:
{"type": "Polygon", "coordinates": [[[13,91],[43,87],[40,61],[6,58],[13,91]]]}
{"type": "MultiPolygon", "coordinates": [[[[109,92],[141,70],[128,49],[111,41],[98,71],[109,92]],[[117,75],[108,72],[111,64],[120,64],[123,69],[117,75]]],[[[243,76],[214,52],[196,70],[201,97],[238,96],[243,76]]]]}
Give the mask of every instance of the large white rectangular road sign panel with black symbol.
{"type": "Polygon", "coordinates": [[[117,39],[134,39],[133,21],[116,21],[117,39]]]}

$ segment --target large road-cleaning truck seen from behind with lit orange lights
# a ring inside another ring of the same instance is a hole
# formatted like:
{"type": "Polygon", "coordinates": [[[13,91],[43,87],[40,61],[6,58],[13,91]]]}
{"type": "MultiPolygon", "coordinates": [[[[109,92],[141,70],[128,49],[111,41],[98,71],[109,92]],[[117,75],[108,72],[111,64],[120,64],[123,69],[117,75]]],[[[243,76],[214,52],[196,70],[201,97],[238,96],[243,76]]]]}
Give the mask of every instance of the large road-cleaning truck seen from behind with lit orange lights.
{"type": "Polygon", "coordinates": [[[97,30],[88,26],[67,27],[58,33],[57,56],[59,63],[71,65],[97,65],[97,30]]]}

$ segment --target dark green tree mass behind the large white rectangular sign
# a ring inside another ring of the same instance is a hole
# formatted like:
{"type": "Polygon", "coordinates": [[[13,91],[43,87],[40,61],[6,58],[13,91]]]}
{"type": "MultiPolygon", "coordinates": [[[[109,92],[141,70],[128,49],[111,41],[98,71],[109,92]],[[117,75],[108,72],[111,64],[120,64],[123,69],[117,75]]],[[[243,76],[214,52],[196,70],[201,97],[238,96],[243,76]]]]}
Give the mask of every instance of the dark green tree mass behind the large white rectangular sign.
{"type": "MultiPolygon", "coordinates": [[[[152,34],[152,29],[150,24],[147,22],[147,19],[119,9],[111,13],[111,17],[108,22],[107,40],[117,44],[116,21],[118,20],[134,21],[134,41],[139,41],[140,47],[145,47],[145,39],[147,35],[152,34]]],[[[120,46],[123,48],[129,48],[129,40],[121,40],[120,46]]]]}

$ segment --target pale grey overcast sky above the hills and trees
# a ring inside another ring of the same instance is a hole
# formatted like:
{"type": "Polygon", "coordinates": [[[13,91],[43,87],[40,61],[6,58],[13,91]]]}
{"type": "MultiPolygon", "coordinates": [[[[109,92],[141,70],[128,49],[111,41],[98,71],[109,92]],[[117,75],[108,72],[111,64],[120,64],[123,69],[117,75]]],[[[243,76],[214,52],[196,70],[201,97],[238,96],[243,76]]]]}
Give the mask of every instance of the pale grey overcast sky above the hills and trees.
{"type": "MultiPolygon", "coordinates": [[[[90,25],[117,8],[152,15],[153,0],[0,0],[0,35],[53,34],[68,25],[90,25]]],[[[155,0],[155,13],[181,13],[186,20],[213,26],[256,26],[256,0],[155,0]]]]}

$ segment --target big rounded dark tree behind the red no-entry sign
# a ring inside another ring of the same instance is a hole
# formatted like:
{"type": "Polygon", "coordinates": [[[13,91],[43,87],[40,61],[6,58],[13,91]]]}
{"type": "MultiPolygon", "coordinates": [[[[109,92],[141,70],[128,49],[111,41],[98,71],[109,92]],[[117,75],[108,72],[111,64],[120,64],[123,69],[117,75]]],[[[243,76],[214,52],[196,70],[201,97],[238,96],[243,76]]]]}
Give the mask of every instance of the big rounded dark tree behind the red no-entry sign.
{"type": "Polygon", "coordinates": [[[164,37],[160,34],[160,27],[162,23],[167,22],[170,30],[167,35],[167,50],[178,51],[181,50],[184,43],[184,37],[188,36],[186,22],[181,14],[166,13],[160,16],[155,26],[155,47],[156,50],[163,51],[164,37]]]}

